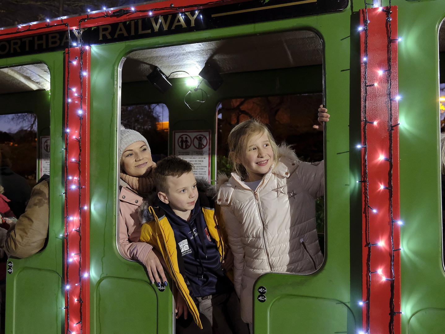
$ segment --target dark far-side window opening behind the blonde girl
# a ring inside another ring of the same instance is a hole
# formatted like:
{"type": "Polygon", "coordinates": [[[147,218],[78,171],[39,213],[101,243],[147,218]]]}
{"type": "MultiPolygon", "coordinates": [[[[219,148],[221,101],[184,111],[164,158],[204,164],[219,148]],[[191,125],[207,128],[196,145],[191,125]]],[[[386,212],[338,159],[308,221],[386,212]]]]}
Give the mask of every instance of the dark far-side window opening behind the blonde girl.
{"type": "MultiPolygon", "coordinates": [[[[317,124],[314,110],[322,103],[322,93],[223,100],[217,109],[218,173],[231,174],[227,138],[233,126],[249,118],[267,124],[275,141],[291,145],[300,160],[310,163],[323,160],[323,132],[312,128],[317,124]]],[[[324,253],[324,196],[316,200],[316,228],[324,253]]]]}

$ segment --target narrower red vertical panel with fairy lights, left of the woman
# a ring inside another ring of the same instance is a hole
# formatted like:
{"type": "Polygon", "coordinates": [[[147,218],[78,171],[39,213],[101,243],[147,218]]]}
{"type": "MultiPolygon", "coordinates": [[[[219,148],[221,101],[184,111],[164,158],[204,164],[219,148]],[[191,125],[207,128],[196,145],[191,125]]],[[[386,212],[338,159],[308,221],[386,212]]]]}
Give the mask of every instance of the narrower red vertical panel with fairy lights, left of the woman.
{"type": "Polygon", "coordinates": [[[89,48],[67,49],[65,63],[65,333],[88,334],[89,48]]]}

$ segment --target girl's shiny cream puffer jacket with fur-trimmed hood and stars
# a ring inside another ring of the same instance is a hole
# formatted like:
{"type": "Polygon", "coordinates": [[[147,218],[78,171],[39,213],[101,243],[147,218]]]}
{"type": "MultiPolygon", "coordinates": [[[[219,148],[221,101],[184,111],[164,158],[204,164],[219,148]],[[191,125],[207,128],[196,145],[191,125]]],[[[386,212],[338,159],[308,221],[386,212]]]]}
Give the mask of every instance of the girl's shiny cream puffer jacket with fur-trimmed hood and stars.
{"type": "Polygon", "coordinates": [[[323,262],[315,200],[324,195],[324,164],[302,162],[283,146],[279,156],[255,191],[235,173],[228,182],[218,182],[216,201],[234,255],[241,315],[248,323],[252,323],[253,285],[261,274],[308,274],[323,262]]]}

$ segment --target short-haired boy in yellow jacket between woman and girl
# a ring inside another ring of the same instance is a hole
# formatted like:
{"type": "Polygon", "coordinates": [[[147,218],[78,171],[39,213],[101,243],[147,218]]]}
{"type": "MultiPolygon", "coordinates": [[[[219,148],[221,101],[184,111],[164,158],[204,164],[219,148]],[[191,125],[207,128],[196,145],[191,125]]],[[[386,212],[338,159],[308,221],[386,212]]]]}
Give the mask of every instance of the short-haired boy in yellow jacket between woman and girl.
{"type": "Polygon", "coordinates": [[[222,266],[226,246],[210,194],[198,189],[192,165],[178,157],[159,161],[153,178],[157,198],[141,206],[140,240],[158,249],[176,285],[177,333],[247,334],[222,266]]]}

